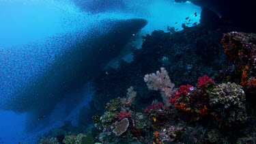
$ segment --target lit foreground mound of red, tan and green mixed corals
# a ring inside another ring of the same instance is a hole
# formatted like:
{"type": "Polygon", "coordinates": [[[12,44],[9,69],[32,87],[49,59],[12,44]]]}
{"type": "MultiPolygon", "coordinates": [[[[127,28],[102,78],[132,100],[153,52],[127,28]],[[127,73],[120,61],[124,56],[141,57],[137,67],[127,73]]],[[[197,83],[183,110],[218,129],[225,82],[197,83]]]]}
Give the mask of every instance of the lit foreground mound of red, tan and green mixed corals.
{"type": "MultiPolygon", "coordinates": [[[[147,74],[145,79],[150,79],[150,83],[145,82],[150,85],[149,87],[163,91],[162,87],[170,85],[171,81],[164,83],[168,74],[162,77],[160,72],[157,73],[158,76],[147,74]],[[149,76],[154,78],[148,78],[149,76]]],[[[96,126],[102,131],[98,135],[98,141],[149,143],[152,141],[150,139],[153,139],[154,143],[187,143],[188,141],[225,143],[230,141],[225,132],[226,128],[235,130],[233,134],[242,132],[238,128],[243,126],[247,119],[242,86],[235,83],[215,85],[212,78],[205,75],[198,78],[197,88],[192,85],[182,85],[169,95],[169,102],[173,105],[153,102],[151,106],[143,109],[144,115],[134,112],[132,105],[125,102],[116,105],[119,109],[115,109],[115,114],[109,109],[104,115],[111,113],[113,115],[108,117],[103,115],[99,125],[96,126]],[[199,125],[199,129],[197,130],[193,124],[199,125]],[[193,135],[187,136],[189,132],[193,135]],[[121,135],[122,137],[117,137],[121,135]]],[[[111,100],[113,101],[115,100],[111,100]]]]}

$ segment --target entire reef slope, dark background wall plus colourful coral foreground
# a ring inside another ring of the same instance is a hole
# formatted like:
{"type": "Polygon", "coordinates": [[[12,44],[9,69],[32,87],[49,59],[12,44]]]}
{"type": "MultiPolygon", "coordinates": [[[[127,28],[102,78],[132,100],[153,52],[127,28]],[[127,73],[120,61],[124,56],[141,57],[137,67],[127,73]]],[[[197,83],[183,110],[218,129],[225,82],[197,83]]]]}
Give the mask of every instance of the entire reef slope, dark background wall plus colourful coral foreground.
{"type": "Polygon", "coordinates": [[[106,106],[92,134],[59,132],[63,143],[255,143],[255,34],[205,27],[145,36],[134,61],[96,78],[94,108],[106,106]]]}

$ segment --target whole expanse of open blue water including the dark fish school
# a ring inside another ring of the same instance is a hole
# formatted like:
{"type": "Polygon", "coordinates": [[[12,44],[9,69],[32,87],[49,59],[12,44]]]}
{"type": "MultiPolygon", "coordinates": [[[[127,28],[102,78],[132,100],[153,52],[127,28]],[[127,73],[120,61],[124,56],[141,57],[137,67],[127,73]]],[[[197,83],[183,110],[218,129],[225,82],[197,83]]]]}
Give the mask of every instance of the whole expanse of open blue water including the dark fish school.
{"type": "MultiPolygon", "coordinates": [[[[167,26],[180,31],[187,17],[199,23],[201,13],[193,3],[169,0],[86,4],[91,1],[0,1],[1,143],[35,143],[65,120],[75,126],[74,117],[94,93],[87,83],[94,75],[87,78],[80,66],[97,73],[117,57],[120,50],[104,59],[98,54],[102,45],[114,44],[116,31],[127,30],[121,47],[134,35],[167,32],[167,26]],[[82,59],[81,52],[94,57],[82,59]]],[[[140,48],[142,42],[131,44],[140,48]]]]}

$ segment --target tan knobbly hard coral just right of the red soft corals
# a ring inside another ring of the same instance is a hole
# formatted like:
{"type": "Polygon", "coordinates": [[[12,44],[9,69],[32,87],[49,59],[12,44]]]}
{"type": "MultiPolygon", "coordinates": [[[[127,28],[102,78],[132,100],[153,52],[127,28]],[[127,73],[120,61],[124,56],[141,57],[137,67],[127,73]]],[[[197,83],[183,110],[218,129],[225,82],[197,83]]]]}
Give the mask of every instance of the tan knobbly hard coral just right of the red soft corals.
{"type": "Polygon", "coordinates": [[[232,122],[244,124],[247,119],[244,104],[245,93],[241,85],[236,83],[222,83],[217,85],[210,93],[210,105],[215,106],[227,119],[225,124],[231,126],[232,122]]]}

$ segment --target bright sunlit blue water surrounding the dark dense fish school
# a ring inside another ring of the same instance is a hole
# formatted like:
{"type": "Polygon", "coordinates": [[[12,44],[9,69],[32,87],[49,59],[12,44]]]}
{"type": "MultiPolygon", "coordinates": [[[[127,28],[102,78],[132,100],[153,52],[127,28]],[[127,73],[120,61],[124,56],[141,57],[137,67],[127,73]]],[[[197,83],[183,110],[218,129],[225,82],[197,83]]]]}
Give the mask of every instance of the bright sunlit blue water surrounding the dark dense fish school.
{"type": "MultiPolygon", "coordinates": [[[[147,20],[147,25],[141,29],[142,35],[154,30],[167,31],[167,26],[182,30],[186,17],[199,23],[200,15],[195,17],[194,13],[200,14],[201,9],[192,3],[169,0],[124,0],[123,3],[122,9],[117,3],[116,7],[91,12],[82,10],[77,1],[0,1],[0,142],[34,143],[38,134],[53,126],[61,126],[63,119],[72,119],[70,115],[76,115],[74,111],[87,104],[91,94],[88,94],[90,90],[85,83],[84,87],[77,87],[77,91],[66,93],[66,97],[53,96],[51,100],[56,104],[54,110],[37,114],[29,109],[31,102],[42,104],[44,98],[30,93],[27,87],[33,87],[33,91],[40,76],[46,74],[60,57],[76,51],[79,42],[97,38],[95,31],[102,34],[111,31],[111,25],[106,26],[104,20],[143,18],[147,20]],[[79,96],[83,97],[83,102],[74,104],[70,108],[72,111],[61,114],[60,109],[65,107],[61,104],[67,105],[68,98],[79,96]],[[29,126],[31,119],[36,120],[42,115],[46,115],[46,118],[36,122],[33,120],[29,126]]],[[[41,111],[43,108],[36,109],[41,111]]],[[[73,122],[76,123],[74,119],[73,122]]]]}

